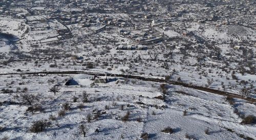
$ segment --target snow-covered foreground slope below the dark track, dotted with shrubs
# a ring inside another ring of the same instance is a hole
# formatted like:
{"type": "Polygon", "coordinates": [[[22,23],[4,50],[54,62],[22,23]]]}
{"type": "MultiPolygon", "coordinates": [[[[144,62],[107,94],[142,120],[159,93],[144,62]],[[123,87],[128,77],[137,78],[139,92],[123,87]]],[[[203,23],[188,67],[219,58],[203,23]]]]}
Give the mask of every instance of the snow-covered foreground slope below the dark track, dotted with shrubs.
{"type": "Polygon", "coordinates": [[[173,85],[165,86],[166,98],[161,100],[155,98],[163,96],[161,83],[109,78],[112,82],[93,85],[81,74],[1,76],[1,137],[81,139],[79,125],[84,124],[88,127],[85,139],[140,139],[143,132],[152,139],[256,138],[255,124],[241,124],[241,116],[255,114],[255,104],[240,99],[228,102],[224,96],[173,85]],[[65,86],[71,77],[78,86],[65,86]],[[55,84],[61,87],[56,95],[49,92],[55,84]],[[37,100],[31,104],[40,109],[28,111],[30,105],[23,94],[34,95],[37,100]],[[70,107],[63,108],[65,103],[70,107]],[[94,114],[96,110],[100,115],[94,114]],[[130,115],[124,121],[127,111],[130,115]],[[43,132],[31,132],[39,120],[51,125],[43,132]],[[161,132],[166,127],[173,133],[161,132]]]}

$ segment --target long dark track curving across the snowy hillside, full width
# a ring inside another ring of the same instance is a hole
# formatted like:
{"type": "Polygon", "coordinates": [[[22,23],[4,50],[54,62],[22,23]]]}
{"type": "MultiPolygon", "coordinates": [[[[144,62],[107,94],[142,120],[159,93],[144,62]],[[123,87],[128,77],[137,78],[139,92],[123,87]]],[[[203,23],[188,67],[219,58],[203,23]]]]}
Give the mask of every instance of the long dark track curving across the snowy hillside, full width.
{"type": "Polygon", "coordinates": [[[195,86],[195,85],[190,85],[188,83],[184,82],[179,82],[179,81],[173,81],[173,80],[165,80],[165,79],[159,79],[159,78],[147,78],[143,76],[137,76],[137,75],[126,75],[126,74],[113,74],[113,73],[96,73],[96,72],[85,72],[85,71],[42,71],[42,72],[16,72],[16,73],[0,73],[0,75],[25,75],[25,74],[97,74],[99,76],[116,76],[116,77],[123,77],[123,78],[129,78],[129,79],[139,79],[143,81],[154,81],[154,82],[164,82],[164,83],[169,83],[171,85],[179,85],[182,87],[190,88],[190,89],[196,89],[199,91],[205,91],[209,93],[214,93],[214,94],[219,94],[223,96],[229,96],[232,98],[239,98],[239,99],[244,99],[249,102],[256,102],[256,99],[254,98],[245,98],[241,95],[238,94],[233,94],[229,92],[224,92],[224,91],[219,91],[219,90],[214,90],[214,89],[209,89],[205,87],[200,87],[200,86],[195,86]]]}

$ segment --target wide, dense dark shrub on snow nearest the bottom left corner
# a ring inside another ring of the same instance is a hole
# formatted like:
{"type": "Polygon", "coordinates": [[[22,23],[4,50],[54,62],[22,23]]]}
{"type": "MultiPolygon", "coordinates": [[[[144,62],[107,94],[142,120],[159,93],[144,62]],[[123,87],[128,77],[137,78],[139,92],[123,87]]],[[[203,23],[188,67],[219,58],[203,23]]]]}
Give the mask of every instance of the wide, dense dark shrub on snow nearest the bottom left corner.
{"type": "Polygon", "coordinates": [[[42,131],[45,131],[47,127],[50,127],[50,125],[51,123],[48,122],[47,120],[40,120],[33,123],[33,125],[30,128],[30,131],[34,133],[42,132],[42,131]]]}

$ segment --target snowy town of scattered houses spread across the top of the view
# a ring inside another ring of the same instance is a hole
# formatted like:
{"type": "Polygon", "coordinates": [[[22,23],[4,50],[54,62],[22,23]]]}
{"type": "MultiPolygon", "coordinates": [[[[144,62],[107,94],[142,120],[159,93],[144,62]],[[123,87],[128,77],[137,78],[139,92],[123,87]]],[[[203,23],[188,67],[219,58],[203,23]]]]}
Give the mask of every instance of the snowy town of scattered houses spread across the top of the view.
{"type": "Polygon", "coordinates": [[[118,49],[141,50],[137,45],[161,41],[204,43],[203,38],[191,31],[195,24],[199,24],[196,30],[202,32],[210,25],[219,31],[227,30],[228,25],[256,29],[252,18],[256,14],[255,5],[255,1],[229,0],[3,0],[0,16],[24,20],[31,31],[37,31],[33,34],[43,36],[40,38],[43,42],[81,39],[114,29],[113,33],[130,40],[131,44],[117,45],[118,49]]]}

